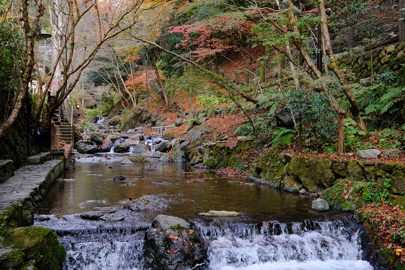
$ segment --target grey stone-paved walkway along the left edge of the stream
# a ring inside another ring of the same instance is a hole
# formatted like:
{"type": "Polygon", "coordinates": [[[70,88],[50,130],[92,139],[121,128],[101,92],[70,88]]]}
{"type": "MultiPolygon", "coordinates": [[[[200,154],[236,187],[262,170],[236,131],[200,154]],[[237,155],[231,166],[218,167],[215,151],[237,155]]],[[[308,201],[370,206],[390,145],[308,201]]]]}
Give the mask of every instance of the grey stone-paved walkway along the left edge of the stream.
{"type": "Polygon", "coordinates": [[[63,171],[63,162],[63,160],[51,160],[41,165],[28,165],[15,171],[13,177],[0,184],[0,214],[3,214],[11,205],[26,199],[35,201],[33,196],[39,194],[38,187],[42,184],[46,190],[63,171]]]}

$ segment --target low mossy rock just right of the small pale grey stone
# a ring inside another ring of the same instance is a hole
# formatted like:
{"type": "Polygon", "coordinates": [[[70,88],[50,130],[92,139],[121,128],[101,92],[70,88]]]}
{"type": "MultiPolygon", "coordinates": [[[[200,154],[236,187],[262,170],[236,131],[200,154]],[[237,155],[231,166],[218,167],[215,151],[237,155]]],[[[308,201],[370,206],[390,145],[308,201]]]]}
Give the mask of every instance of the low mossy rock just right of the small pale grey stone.
{"type": "Polygon", "coordinates": [[[322,195],[330,207],[354,211],[361,206],[361,203],[356,201],[354,188],[351,189],[344,179],[336,181],[332,187],[323,190],[322,195]]]}

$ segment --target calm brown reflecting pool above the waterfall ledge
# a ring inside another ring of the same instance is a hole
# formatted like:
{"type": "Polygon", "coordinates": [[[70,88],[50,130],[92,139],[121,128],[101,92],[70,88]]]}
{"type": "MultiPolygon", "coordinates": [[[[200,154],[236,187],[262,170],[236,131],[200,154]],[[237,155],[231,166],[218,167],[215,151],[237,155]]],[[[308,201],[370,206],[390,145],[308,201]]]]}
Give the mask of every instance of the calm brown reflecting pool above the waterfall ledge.
{"type": "MultiPolygon", "coordinates": [[[[266,186],[237,185],[220,178],[215,172],[204,172],[176,163],[136,163],[121,165],[123,155],[80,159],[49,190],[39,205],[38,214],[68,215],[120,207],[128,198],[155,195],[171,206],[162,211],[166,215],[195,218],[210,210],[237,211],[250,221],[278,220],[280,222],[305,219],[326,220],[341,217],[341,212],[311,211],[311,200],[266,186]],[[111,167],[112,168],[109,168],[111,167]],[[113,181],[124,175],[125,181],[113,181]],[[192,179],[212,178],[189,182],[192,179]]],[[[343,214],[344,215],[344,214],[343,214]]]]}

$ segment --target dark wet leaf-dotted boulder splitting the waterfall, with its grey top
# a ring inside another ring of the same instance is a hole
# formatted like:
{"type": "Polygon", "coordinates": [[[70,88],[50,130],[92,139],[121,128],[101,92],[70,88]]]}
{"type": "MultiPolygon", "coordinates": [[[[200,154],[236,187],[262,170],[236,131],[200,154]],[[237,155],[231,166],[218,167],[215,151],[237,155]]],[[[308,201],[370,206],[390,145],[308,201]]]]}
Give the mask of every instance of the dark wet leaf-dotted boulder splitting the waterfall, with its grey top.
{"type": "MultiPolygon", "coordinates": [[[[198,231],[194,232],[181,226],[188,223],[180,218],[164,216],[159,219],[159,226],[164,223],[165,229],[154,226],[145,234],[143,246],[145,268],[193,269],[197,264],[205,262],[208,245],[198,231]],[[169,222],[169,219],[173,222],[169,222]],[[166,229],[169,224],[172,226],[166,229]]],[[[155,221],[154,223],[157,224],[155,221]]]]}

